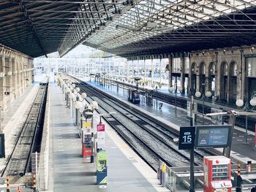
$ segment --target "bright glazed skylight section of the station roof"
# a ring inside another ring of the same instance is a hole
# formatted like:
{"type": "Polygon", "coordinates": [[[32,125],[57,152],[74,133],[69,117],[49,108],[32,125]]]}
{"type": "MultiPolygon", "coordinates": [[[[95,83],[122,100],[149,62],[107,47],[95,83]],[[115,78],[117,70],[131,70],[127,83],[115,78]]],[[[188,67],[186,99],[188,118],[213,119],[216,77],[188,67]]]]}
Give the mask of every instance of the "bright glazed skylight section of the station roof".
{"type": "MultiPolygon", "coordinates": [[[[135,1],[135,6],[113,20],[103,31],[89,37],[86,42],[103,48],[128,45],[167,31],[175,32],[178,28],[214,19],[230,12],[239,12],[240,9],[249,7],[255,2],[249,0],[135,1]],[[102,42],[102,39],[108,41],[102,42]]],[[[227,19],[232,20],[232,18],[227,19]]]]}

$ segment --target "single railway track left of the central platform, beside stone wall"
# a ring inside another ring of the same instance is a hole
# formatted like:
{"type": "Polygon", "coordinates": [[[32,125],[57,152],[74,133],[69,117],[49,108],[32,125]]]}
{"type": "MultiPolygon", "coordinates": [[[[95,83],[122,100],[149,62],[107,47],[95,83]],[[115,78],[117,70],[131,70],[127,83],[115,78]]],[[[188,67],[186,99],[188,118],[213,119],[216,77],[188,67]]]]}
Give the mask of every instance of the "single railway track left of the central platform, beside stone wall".
{"type": "Polygon", "coordinates": [[[37,96],[17,136],[15,147],[7,160],[7,166],[1,173],[1,177],[7,175],[22,177],[26,172],[31,172],[31,153],[39,151],[41,143],[40,133],[42,132],[47,88],[48,83],[40,83],[37,96]]]}

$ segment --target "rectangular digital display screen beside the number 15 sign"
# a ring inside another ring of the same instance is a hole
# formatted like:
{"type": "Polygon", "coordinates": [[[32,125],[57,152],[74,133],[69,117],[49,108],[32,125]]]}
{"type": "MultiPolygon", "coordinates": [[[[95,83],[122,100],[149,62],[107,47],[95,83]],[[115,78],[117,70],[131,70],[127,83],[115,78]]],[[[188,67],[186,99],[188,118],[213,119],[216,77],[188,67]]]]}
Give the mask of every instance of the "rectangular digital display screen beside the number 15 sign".
{"type": "Polygon", "coordinates": [[[230,147],[231,128],[230,125],[197,126],[195,147],[230,147]]]}

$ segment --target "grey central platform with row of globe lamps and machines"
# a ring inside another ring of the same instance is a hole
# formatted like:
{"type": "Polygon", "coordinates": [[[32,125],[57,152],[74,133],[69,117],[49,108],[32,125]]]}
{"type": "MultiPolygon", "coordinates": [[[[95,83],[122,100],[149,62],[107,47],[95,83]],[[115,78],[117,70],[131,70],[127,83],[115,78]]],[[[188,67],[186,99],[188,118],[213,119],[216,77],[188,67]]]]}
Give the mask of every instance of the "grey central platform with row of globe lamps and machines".
{"type": "MultiPolygon", "coordinates": [[[[83,158],[78,128],[56,83],[50,88],[50,184],[58,191],[167,191],[154,172],[110,126],[106,125],[108,185],[96,185],[96,167],[83,158]]],[[[94,123],[99,116],[94,115],[94,123]]],[[[104,123],[104,122],[103,122],[104,123]]],[[[96,125],[96,124],[95,124],[96,125]]]]}

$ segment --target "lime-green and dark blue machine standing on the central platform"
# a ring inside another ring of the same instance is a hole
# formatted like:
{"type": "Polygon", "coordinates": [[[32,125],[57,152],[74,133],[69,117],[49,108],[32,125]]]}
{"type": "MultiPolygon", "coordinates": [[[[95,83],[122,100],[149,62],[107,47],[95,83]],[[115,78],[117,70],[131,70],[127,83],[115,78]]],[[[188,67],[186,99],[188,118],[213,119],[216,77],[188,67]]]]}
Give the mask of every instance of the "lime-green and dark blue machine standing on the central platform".
{"type": "Polygon", "coordinates": [[[96,160],[96,177],[97,177],[97,185],[107,184],[108,177],[108,153],[105,151],[99,151],[97,153],[97,160],[96,160]]]}

